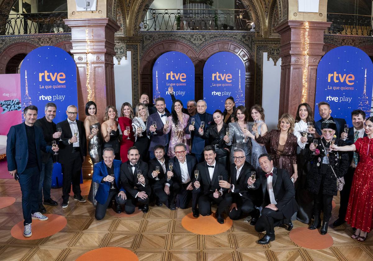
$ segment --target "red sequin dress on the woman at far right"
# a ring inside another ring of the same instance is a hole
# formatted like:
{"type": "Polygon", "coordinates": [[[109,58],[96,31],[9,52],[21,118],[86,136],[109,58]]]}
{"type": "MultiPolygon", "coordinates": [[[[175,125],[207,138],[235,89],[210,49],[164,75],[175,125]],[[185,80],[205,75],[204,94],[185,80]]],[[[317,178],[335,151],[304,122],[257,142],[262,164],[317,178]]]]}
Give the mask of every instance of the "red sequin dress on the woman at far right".
{"type": "Polygon", "coordinates": [[[359,138],[355,147],[360,159],[352,179],[346,221],[351,227],[370,232],[373,227],[373,139],[359,138]]]}

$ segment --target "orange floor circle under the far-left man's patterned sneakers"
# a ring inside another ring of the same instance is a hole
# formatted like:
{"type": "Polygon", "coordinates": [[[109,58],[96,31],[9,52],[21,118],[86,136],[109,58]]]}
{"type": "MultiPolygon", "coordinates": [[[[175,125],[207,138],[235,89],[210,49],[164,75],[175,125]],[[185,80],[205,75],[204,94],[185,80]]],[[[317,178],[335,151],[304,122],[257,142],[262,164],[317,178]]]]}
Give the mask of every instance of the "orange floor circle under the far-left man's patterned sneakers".
{"type": "Polygon", "coordinates": [[[57,232],[60,232],[60,230],[62,230],[68,223],[66,218],[61,215],[46,214],[46,216],[48,217],[48,220],[46,221],[40,221],[37,219],[32,220],[32,236],[30,236],[29,238],[25,238],[23,236],[23,220],[12,227],[12,230],[10,230],[10,235],[12,235],[13,238],[21,240],[46,238],[47,236],[51,236],[56,234],[57,232]]]}

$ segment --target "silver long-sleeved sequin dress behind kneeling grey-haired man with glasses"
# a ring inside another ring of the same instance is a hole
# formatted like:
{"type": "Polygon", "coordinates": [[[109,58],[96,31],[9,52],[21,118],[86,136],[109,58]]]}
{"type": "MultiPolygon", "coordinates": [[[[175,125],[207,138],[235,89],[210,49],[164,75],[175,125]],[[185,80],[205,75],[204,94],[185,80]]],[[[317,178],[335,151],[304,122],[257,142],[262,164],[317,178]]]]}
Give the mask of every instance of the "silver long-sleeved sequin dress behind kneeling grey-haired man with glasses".
{"type": "MultiPolygon", "coordinates": [[[[247,129],[251,131],[251,127],[253,126],[250,123],[246,123],[247,129]]],[[[251,164],[251,142],[250,138],[247,137],[245,141],[244,133],[242,132],[238,122],[231,122],[228,124],[229,126],[229,143],[228,146],[232,145],[231,148],[231,163],[234,163],[233,160],[233,151],[236,149],[242,149],[245,151],[246,161],[251,164]]]]}

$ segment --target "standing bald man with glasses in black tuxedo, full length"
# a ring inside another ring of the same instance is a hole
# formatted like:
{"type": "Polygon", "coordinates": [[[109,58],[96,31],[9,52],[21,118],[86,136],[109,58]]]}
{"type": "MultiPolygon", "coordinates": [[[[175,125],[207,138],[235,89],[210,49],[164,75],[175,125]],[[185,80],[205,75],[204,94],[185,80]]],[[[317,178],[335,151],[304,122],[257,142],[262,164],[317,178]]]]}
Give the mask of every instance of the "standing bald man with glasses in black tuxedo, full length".
{"type": "Polygon", "coordinates": [[[68,118],[57,123],[57,128],[62,129],[61,139],[59,142],[60,151],[58,162],[62,166],[62,208],[69,205],[69,193],[74,192],[74,200],[85,202],[81,196],[80,174],[82,164],[87,156],[87,139],[85,137],[84,124],[76,119],[78,109],[74,105],[69,105],[66,109],[68,118]]]}

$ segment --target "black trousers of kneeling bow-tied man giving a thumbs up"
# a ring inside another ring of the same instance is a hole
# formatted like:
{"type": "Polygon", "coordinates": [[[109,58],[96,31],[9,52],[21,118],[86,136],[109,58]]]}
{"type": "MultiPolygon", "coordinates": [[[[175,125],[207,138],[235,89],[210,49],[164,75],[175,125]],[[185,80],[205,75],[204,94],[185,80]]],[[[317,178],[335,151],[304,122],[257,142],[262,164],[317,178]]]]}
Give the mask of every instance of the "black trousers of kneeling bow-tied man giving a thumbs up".
{"type": "MultiPolygon", "coordinates": [[[[196,189],[198,190],[198,189],[196,189]]],[[[217,204],[217,213],[220,215],[224,210],[229,207],[232,203],[232,196],[228,193],[219,196],[219,198],[214,198],[214,192],[211,191],[208,194],[201,195],[198,199],[198,210],[202,216],[207,216],[211,214],[211,203],[217,204]]]]}

